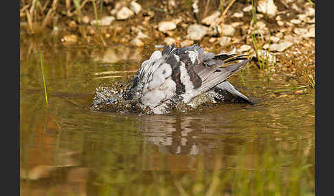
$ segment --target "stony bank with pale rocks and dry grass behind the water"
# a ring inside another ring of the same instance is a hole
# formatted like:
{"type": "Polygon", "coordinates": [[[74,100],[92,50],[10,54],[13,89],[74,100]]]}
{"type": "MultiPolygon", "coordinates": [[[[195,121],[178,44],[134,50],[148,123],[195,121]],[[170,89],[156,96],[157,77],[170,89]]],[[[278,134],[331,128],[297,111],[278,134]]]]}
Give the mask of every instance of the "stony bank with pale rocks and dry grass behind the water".
{"type": "Polygon", "coordinates": [[[309,1],[66,2],[21,2],[21,58],[45,46],[85,47],[102,63],[140,62],[148,48],[198,43],[215,53],[247,53],[267,75],[282,73],[305,84],[314,77],[315,10],[309,1]],[[117,45],[130,51],[110,52],[117,45]],[[96,47],[103,52],[93,53],[96,47]]]}

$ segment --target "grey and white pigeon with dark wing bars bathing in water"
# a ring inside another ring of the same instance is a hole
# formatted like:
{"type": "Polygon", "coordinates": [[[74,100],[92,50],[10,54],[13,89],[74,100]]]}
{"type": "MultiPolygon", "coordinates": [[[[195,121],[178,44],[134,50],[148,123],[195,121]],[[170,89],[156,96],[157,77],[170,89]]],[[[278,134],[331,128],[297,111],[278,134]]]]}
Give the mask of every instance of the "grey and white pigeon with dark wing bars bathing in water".
{"type": "Polygon", "coordinates": [[[252,103],[226,81],[245,67],[245,56],[204,52],[198,45],[176,48],[167,46],[144,61],[133,80],[131,94],[142,109],[155,114],[168,113],[179,101],[188,103],[212,88],[227,91],[252,103]]]}

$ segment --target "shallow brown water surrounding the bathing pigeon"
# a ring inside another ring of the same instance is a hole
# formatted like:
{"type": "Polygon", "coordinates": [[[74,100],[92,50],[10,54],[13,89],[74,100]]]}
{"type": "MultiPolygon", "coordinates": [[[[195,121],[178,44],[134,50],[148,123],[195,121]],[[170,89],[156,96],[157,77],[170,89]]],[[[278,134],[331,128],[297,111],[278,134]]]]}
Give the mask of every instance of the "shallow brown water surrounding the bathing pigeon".
{"type": "Polygon", "coordinates": [[[152,49],[43,49],[48,106],[40,50],[21,47],[21,195],[314,195],[314,90],[268,93],[298,78],[231,77],[254,106],[96,112],[94,90],[133,74],[102,73],[137,70],[152,49]]]}

